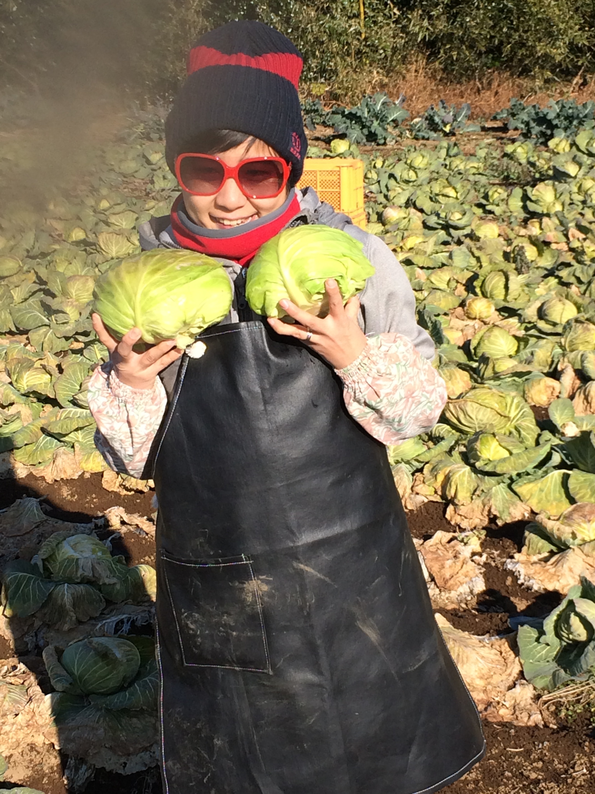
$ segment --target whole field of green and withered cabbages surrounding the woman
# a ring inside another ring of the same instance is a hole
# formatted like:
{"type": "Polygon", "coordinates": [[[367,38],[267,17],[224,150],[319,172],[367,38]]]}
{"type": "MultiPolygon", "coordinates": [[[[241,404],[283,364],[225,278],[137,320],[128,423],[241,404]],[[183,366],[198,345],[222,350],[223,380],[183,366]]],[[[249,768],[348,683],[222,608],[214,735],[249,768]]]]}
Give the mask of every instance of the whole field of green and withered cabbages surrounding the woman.
{"type": "MultiPolygon", "coordinates": [[[[360,151],[342,135],[309,154],[363,158],[368,228],[436,342],[447,407],[389,457],[444,638],[489,724],[553,737],[570,711],[595,708],[595,130],[587,120],[542,145],[461,118],[454,138],[447,110],[422,141],[360,151]]],[[[0,182],[25,156],[18,137],[3,145],[0,182]]],[[[156,763],[154,571],[122,556],[152,544],[146,499],[141,515],[122,507],[152,484],[106,470],[86,384],[106,360],[94,283],[175,195],[155,122],[99,147],[42,208],[0,209],[0,489],[93,482],[116,506],[90,523],[31,496],[0,511],[0,780],[40,786],[43,767],[44,794],[99,791],[104,773],[136,780],[156,763]]],[[[573,791],[589,790],[585,753],[573,791]]],[[[477,774],[449,790],[515,790],[477,774]]]]}

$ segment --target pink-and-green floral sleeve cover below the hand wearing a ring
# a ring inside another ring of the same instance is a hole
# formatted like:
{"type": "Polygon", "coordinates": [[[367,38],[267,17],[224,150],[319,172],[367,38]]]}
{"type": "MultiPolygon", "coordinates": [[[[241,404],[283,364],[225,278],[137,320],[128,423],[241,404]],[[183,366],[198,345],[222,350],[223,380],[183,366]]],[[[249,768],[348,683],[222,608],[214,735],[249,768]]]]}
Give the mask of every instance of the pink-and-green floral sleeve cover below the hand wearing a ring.
{"type": "Polygon", "coordinates": [[[351,416],[386,445],[431,430],[447,401],[439,372],[400,333],[368,337],[359,357],[336,373],[351,416]]]}

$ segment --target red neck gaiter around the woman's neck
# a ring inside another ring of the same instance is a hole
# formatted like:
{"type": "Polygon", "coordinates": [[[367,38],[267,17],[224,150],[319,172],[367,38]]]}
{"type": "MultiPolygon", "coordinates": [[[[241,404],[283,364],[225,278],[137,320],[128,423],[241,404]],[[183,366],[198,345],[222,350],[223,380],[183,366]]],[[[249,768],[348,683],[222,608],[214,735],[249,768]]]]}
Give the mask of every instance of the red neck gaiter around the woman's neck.
{"type": "Polygon", "coordinates": [[[235,237],[202,237],[190,231],[178,217],[181,201],[182,196],[179,195],[175,199],[174,206],[171,207],[171,230],[178,245],[190,251],[198,251],[207,256],[220,256],[242,265],[249,264],[260,246],[278,234],[300,211],[300,202],[298,197],[294,196],[285,212],[256,229],[237,234],[235,237]]]}

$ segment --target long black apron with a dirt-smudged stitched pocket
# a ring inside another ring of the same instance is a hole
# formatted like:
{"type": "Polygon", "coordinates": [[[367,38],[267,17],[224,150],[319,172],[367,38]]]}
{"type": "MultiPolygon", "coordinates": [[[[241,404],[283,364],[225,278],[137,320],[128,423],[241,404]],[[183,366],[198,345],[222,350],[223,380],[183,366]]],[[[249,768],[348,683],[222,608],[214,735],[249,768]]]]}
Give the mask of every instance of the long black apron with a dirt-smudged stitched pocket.
{"type": "Polygon", "coordinates": [[[300,343],[202,339],[154,474],[165,791],[437,791],[484,741],[385,447],[300,343]]]}

